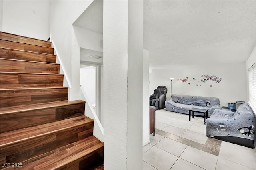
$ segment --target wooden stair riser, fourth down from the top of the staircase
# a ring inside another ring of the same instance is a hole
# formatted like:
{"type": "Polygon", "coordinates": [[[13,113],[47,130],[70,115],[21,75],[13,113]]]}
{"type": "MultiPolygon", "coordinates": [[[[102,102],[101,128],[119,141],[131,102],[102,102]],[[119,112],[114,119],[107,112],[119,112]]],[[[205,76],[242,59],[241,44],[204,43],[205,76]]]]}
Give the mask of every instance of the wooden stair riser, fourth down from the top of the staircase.
{"type": "Polygon", "coordinates": [[[58,74],[59,64],[39,63],[13,59],[0,59],[1,72],[58,74]]]}

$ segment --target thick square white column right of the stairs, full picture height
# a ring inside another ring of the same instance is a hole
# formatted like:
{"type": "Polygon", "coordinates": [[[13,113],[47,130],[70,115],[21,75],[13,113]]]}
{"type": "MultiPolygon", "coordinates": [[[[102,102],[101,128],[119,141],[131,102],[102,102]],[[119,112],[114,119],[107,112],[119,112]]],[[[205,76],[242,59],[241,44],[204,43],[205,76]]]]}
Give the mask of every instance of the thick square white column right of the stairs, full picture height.
{"type": "Polygon", "coordinates": [[[104,168],[142,169],[143,1],[103,12],[104,168]]]}

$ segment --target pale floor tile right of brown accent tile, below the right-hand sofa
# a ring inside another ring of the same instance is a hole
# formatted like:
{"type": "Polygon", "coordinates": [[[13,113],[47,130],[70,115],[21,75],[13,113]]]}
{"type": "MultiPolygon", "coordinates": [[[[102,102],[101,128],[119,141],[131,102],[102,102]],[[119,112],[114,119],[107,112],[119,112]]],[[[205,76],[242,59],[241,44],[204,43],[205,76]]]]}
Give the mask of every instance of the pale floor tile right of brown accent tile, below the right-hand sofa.
{"type": "Polygon", "coordinates": [[[256,152],[248,152],[246,148],[232,148],[230,146],[223,145],[220,146],[219,157],[225,158],[237,164],[247,166],[249,168],[256,168],[256,152]]]}

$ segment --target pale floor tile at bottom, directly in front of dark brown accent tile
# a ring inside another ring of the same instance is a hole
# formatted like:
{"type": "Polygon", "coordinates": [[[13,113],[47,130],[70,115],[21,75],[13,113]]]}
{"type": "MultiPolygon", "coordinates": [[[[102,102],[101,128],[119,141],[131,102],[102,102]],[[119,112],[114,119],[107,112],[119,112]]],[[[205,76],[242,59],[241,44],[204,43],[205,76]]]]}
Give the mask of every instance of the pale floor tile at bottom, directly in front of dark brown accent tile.
{"type": "Polygon", "coordinates": [[[214,170],[218,156],[188,146],[180,158],[207,170],[214,170]]]}

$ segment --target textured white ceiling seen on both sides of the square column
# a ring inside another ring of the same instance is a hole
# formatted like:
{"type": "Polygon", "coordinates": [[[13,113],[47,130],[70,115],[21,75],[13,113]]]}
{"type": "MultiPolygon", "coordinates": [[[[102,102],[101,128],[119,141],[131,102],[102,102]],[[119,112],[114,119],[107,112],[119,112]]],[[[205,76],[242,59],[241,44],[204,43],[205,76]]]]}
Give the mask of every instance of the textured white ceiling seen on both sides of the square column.
{"type": "MultiPolygon", "coordinates": [[[[102,34],[103,1],[77,26],[102,34]]],[[[245,62],[256,45],[256,1],[144,0],[144,49],[150,69],[245,62]]]]}

